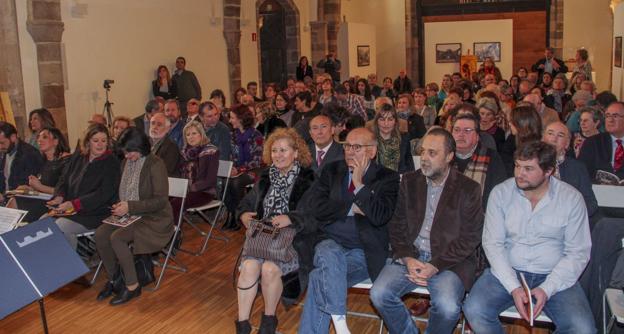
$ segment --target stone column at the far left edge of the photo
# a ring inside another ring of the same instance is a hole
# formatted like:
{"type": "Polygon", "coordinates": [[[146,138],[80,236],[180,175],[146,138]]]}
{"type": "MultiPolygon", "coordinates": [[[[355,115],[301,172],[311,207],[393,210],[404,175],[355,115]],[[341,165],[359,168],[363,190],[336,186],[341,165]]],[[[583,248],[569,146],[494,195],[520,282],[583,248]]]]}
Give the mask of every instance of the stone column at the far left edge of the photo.
{"type": "Polygon", "coordinates": [[[18,131],[28,133],[15,0],[0,0],[0,50],[0,91],[9,93],[18,131]]]}

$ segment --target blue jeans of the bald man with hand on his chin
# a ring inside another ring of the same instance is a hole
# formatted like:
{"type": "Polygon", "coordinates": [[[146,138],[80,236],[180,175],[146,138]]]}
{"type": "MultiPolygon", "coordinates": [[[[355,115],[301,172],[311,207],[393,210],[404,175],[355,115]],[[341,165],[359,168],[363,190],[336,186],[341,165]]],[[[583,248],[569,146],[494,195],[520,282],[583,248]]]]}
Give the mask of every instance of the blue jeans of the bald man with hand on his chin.
{"type": "Polygon", "coordinates": [[[364,250],[344,248],[331,239],[318,243],[299,334],[328,333],[331,315],[347,314],[347,289],[366,279],[364,250]]]}

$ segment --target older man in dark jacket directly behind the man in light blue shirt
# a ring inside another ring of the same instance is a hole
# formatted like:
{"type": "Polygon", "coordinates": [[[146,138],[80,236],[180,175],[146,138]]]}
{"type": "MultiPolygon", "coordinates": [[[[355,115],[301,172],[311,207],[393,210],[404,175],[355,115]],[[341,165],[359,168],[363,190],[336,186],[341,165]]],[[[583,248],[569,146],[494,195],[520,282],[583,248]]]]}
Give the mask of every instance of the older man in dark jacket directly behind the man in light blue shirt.
{"type": "MultiPolygon", "coordinates": [[[[557,166],[553,175],[573,186],[583,195],[590,223],[595,222],[598,201],[591,186],[591,178],[585,165],[568,154],[570,148],[570,130],[561,122],[550,123],[544,128],[542,141],[553,145],[557,150],[557,166]]],[[[596,217],[598,218],[598,217],[596,217]]],[[[591,224],[593,226],[593,224],[591,224]]]]}

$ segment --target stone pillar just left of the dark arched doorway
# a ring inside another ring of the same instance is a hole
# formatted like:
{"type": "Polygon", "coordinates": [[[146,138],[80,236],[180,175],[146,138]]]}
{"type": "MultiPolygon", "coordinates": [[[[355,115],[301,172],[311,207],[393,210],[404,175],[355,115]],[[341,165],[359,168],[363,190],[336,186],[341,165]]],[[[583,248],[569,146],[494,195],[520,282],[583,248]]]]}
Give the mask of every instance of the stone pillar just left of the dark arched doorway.
{"type": "Polygon", "coordinates": [[[234,91],[241,87],[240,6],[240,0],[223,1],[223,37],[227,48],[231,103],[236,100],[234,91]]]}

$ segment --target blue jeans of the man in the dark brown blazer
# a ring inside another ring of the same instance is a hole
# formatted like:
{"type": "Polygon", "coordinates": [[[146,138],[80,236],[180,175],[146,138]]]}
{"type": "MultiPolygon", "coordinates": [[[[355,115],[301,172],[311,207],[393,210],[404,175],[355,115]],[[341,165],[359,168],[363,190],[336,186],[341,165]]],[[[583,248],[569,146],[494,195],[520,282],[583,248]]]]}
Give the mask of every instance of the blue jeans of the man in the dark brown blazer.
{"type": "MultiPolygon", "coordinates": [[[[396,261],[386,264],[370,292],[373,305],[393,334],[418,333],[410,312],[401,300],[418,287],[406,274],[404,264],[396,261]]],[[[461,315],[464,284],[457,274],[444,270],[427,280],[427,289],[431,295],[431,309],[426,333],[452,333],[461,315]]]]}

